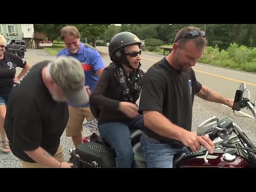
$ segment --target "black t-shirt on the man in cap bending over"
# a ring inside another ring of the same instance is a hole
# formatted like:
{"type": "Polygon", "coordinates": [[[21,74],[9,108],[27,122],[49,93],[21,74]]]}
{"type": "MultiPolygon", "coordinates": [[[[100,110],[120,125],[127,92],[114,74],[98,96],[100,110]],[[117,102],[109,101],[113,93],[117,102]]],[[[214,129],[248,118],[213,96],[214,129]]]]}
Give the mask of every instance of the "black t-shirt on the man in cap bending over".
{"type": "Polygon", "coordinates": [[[56,102],[46,88],[42,61],[29,70],[9,94],[4,129],[13,155],[34,162],[24,150],[39,146],[54,155],[68,122],[68,102],[56,102]]]}

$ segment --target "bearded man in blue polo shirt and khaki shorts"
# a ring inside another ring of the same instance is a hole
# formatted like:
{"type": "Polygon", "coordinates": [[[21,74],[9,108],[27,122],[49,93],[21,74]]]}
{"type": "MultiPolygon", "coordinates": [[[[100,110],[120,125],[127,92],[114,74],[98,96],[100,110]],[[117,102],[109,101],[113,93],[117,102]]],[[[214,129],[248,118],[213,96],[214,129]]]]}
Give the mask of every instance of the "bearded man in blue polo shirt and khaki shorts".
{"type": "MultiPolygon", "coordinates": [[[[93,89],[93,86],[98,82],[105,65],[101,55],[96,49],[93,49],[80,41],[80,33],[74,26],[66,26],[60,30],[62,41],[66,47],[59,51],[60,55],[71,55],[77,58],[84,69],[85,85],[93,89]]],[[[66,136],[72,137],[75,147],[83,142],[83,122],[84,118],[87,121],[94,119],[89,104],[77,106],[73,103],[68,103],[69,119],[66,127],[66,136]]]]}

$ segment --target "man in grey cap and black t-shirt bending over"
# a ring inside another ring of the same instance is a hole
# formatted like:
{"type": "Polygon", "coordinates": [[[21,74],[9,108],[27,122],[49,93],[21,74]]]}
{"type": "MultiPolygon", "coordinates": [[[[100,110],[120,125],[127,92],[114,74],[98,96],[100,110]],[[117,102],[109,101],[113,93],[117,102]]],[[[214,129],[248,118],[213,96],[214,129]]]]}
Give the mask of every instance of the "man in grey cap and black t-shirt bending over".
{"type": "Polygon", "coordinates": [[[73,57],[59,57],[33,66],[9,95],[4,129],[13,155],[23,167],[70,167],[60,137],[68,121],[67,99],[89,102],[85,75],[73,57]]]}

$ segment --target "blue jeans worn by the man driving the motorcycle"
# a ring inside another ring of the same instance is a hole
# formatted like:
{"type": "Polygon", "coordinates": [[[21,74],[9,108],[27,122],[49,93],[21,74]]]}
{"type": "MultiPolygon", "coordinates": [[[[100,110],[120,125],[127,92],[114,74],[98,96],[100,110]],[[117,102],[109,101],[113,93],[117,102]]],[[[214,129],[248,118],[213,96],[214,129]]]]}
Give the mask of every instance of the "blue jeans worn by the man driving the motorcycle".
{"type": "Polygon", "coordinates": [[[140,138],[141,151],[144,154],[148,168],[172,168],[173,157],[175,154],[190,153],[187,147],[174,149],[170,145],[160,143],[154,138],[142,134],[140,138]]]}

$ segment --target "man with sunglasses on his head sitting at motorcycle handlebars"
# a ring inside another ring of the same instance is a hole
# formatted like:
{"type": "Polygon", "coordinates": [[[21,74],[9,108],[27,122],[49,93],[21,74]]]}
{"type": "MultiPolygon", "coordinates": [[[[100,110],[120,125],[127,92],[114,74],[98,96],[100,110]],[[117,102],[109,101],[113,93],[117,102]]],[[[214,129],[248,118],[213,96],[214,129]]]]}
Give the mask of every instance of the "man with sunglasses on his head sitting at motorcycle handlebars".
{"type": "Polygon", "coordinates": [[[150,67],[143,79],[141,149],[148,167],[172,167],[173,156],[189,153],[187,147],[197,151],[203,146],[213,153],[210,138],[191,132],[194,95],[229,107],[233,107],[234,99],[226,99],[197,81],[191,67],[202,57],[206,44],[204,31],[181,29],[172,52],[150,67]]]}

